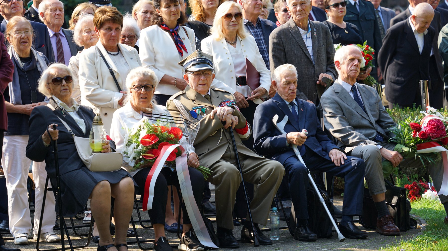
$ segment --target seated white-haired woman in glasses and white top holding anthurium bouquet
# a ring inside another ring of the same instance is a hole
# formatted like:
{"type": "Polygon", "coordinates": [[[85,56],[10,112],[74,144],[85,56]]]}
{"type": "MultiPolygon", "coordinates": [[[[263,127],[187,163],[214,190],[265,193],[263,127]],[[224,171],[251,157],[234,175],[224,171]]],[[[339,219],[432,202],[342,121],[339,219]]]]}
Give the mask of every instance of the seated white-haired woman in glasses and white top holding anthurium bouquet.
{"type": "MultiPolygon", "coordinates": [[[[134,126],[139,126],[139,121],[143,117],[143,112],[151,111],[153,115],[161,114],[170,116],[170,113],[163,105],[157,105],[153,100],[155,88],[157,87],[158,79],[154,71],[146,67],[137,67],[129,72],[126,77],[126,88],[129,90],[129,95],[126,98],[125,106],[116,110],[112,117],[111,138],[116,142],[116,151],[122,151],[125,144],[125,134],[134,126]]],[[[152,123],[157,123],[155,119],[149,119],[152,123]]],[[[172,125],[175,126],[175,125],[172,125]]],[[[185,138],[181,139],[183,144],[187,144],[185,138]]],[[[136,171],[132,171],[135,161],[130,161],[129,158],[123,159],[123,167],[129,170],[135,182],[139,187],[144,188],[146,178],[151,167],[144,167],[136,171]]],[[[199,160],[193,151],[188,153],[188,165],[190,172],[190,179],[193,188],[194,198],[196,204],[200,208],[202,202],[202,190],[204,188],[204,177],[201,172],[194,167],[199,166],[199,160]]],[[[154,250],[172,250],[168,245],[165,236],[165,209],[168,197],[168,185],[179,188],[179,180],[176,172],[172,172],[170,168],[164,167],[160,172],[155,182],[154,199],[152,209],[148,210],[151,224],[155,231],[155,247],[154,250]]],[[[193,228],[188,217],[188,213],[183,205],[183,234],[179,250],[203,250],[203,246],[194,237],[193,228]]]]}

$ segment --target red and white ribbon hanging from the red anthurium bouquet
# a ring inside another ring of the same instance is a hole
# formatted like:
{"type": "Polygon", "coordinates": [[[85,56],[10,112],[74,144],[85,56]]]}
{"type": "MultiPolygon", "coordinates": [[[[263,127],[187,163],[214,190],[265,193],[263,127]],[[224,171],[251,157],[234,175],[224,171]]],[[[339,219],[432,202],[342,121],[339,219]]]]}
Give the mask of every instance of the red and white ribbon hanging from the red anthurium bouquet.
{"type": "Polygon", "coordinates": [[[157,177],[159,176],[160,171],[162,171],[164,163],[170,153],[172,153],[172,151],[174,151],[174,149],[178,146],[181,148],[182,155],[176,158],[177,178],[179,179],[182,197],[188,212],[188,216],[190,217],[191,224],[193,225],[194,233],[202,245],[218,248],[211,241],[210,234],[208,234],[207,227],[205,226],[202,215],[199,212],[198,205],[196,205],[196,201],[194,200],[193,189],[191,188],[190,173],[188,172],[187,156],[184,154],[185,149],[182,145],[166,145],[162,147],[159,156],[155,160],[148,176],[146,177],[145,192],[143,194],[143,211],[152,209],[155,180],[157,180],[157,177]]]}

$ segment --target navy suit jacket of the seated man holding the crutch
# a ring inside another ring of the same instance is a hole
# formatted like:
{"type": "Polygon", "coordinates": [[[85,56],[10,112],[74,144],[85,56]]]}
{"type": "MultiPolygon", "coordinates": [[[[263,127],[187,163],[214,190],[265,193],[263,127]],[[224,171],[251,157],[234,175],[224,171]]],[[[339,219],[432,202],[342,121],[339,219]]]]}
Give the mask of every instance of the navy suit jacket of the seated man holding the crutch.
{"type": "MultiPolygon", "coordinates": [[[[288,120],[284,127],[286,133],[301,132],[303,128],[308,131],[305,145],[316,154],[329,159],[330,150],[339,149],[323,132],[317,117],[316,106],[305,100],[296,98],[299,111],[299,123],[291,123],[288,120]]],[[[286,102],[277,93],[272,99],[257,106],[254,114],[254,150],[259,155],[284,163],[286,159],[295,156],[291,146],[286,144],[286,134],[282,134],[272,123],[272,118],[277,114],[281,121],[285,115],[292,117],[292,113],[286,102]]],[[[305,154],[305,146],[297,146],[301,155],[305,154]]]]}

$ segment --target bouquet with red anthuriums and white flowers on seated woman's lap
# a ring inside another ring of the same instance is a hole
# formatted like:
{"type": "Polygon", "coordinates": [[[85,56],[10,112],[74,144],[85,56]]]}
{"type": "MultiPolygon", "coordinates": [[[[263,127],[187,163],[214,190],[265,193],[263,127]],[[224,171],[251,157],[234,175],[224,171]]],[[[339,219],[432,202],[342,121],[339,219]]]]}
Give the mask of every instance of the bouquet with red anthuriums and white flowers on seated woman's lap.
{"type": "MultiPolygon", "coordinates": [[[[150,167],[161,154],[164,146],[180,144],[183,136],[182,130],[171,126],[168,122],[157,120],[152,124],[148,117],[143,117],[137,125],[129,129],[125,135],[123,155],[129,159],[129,165],[135,171],[139,168],[150,167]]],[[[165,161],[165,165],[172,170],[176,167],[176,158],[181,156],[183,149],[176,147],[165,161]]],[[[205,178],[211,171],[207,167],[198,167],[205,178]]]]}

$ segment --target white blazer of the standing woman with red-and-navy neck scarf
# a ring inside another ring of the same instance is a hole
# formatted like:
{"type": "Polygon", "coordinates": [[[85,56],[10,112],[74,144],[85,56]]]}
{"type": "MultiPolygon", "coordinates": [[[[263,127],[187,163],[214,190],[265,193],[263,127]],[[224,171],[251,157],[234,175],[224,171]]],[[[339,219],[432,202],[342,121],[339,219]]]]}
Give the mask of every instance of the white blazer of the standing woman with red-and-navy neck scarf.
{"type": "MultiPolygon", "coordinates": [[[[140,32],[140,38],[138,39],[141,45],[139,50],[140,59],[142,60],[143,66],[147,66],[155,72],[159,82],[165,74],[183,79],[184,68],[177,63],[181,62],[196,50],[194,31],[192,29],[181,26],[179,28],[179,35],[188,51],[184,51],[182,57],[177,52],[171,34],[164,31],[159,25],[151,25],[142,29],[140,32]],[[184,28],[188,36],[185,34],[184,28]]],[[[180,91],[180,89],[171,84],[159,84],[155,88],[156,94],[164,95],[173,95],[180,91]]]]}

